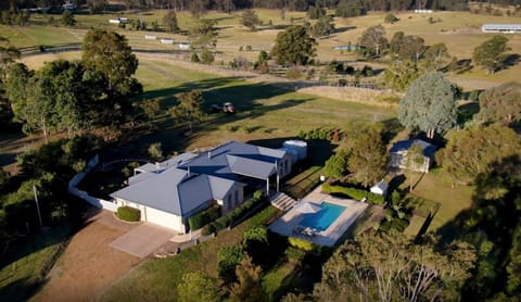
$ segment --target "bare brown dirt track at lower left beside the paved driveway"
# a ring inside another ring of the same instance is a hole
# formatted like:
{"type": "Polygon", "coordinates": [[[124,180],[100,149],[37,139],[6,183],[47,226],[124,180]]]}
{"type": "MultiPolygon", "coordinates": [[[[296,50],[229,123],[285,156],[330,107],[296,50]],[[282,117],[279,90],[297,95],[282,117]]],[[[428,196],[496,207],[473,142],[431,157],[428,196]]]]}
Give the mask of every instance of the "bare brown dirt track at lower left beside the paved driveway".
{"type": "Polygon", "coordinates": [[[109,211],[92,216],[65,249],[34,301],[91,301],[139,264],[140,259],[109,247],[135,225],[115,221],[109,211]]]}

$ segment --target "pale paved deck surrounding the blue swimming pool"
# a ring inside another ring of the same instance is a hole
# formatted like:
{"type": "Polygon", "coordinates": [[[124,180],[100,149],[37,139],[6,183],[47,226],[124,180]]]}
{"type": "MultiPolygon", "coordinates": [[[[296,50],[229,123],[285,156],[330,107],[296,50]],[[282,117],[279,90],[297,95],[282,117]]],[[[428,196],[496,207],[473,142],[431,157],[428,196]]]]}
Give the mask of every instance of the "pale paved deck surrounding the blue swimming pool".
{"type": "Polygon", "coordinates": [[[280,218],[275,221],[269,229],[288,237],[295,237],[316,244],[333,247],[334,243],[344,235],[347,228],[358,218],[358,216],[366,211],[368,204],[352,199],[343,199],[332,197],[321,192],[321,186],[317,187],[313,192],[301,200],[314,203],[329,202],[346,206],[344,212],[326,229],[317,231],[315,236],[296,235],[294,229],[301,227],[301,222],[304,214],[295,209],[291,209],[280,218]]]}

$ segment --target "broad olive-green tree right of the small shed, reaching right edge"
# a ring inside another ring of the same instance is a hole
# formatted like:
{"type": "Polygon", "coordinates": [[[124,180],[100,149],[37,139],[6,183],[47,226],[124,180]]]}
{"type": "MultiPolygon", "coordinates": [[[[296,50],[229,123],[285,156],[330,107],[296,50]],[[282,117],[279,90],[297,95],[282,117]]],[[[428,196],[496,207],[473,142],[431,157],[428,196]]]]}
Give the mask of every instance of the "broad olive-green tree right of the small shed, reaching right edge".
{"type": "Polygon", "coordinates": [[[476,175],[490,174],[493,162],[519,154],[519,150],[521,138],[512,129],[491,125],[450,133],[437,159],[455,179],[471,184],[476,175]]]}

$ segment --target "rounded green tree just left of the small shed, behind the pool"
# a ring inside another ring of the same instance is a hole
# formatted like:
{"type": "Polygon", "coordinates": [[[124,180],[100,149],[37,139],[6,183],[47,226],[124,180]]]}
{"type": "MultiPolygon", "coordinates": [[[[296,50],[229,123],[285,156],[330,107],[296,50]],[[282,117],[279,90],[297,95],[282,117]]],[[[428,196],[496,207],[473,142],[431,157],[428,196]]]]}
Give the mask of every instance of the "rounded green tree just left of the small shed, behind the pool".
{"type": "Polygon", "coordinates": [[[382,128],[367,127],[354,140],[347,160],[354,179],[365,187],[374,185],[385,175],[387,162],[389,152],[382,140],[382,128]]]}

